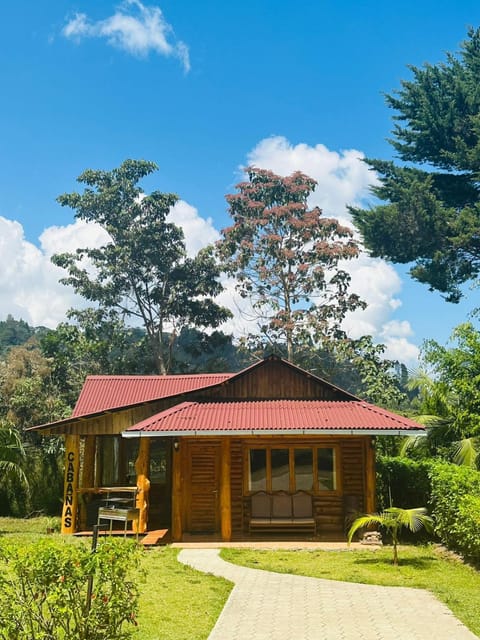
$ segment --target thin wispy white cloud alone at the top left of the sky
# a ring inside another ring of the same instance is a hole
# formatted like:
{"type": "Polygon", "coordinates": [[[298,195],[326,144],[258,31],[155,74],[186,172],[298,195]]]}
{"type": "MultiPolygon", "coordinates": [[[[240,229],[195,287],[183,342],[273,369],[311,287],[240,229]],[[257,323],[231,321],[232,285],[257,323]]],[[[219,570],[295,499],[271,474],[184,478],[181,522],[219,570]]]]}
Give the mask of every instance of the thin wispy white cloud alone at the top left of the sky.
{"type": "Polygon", "coordinates": [[[154,51],[180,60],[190,71],[188,46],[176,40],[172,26],[159,7],[148,7],[139,0],[125,0],[115,13],[96,22],[85,13],[77,13],[62,29],[65,38],[80,42],[84,38],[105,38],[113,47],[134,56],[145,57],[154,51]]]}

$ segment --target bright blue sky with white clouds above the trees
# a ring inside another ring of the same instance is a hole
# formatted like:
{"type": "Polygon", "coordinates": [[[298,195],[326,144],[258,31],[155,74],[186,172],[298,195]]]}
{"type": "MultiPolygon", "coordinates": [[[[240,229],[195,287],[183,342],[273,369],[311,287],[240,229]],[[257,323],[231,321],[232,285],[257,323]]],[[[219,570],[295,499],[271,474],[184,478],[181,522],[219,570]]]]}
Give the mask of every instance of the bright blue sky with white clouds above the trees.
{"type": "MultiPolygon", "coordinates": [[[[95,235],[55,202],[84,169],[156,161],[145,189],[180,195],[187,235],[228,224],[224,196],[249,161],[310,170],[316,203],[345,219],[347,202],[368,200],[372,178],[358,159],[392,157],[382,92],[408,64],[457,51],[480,7],[17,0],[1,17],[0,317],[54,325],[73,298],[52,284],[49,254],[95,235]]],[[[378,263],[352,277],[376,309],[352,326],[409,362],[425,338],[445,342],[478,300],[467,292],[448,305],[405,268],[378,263]]]]}

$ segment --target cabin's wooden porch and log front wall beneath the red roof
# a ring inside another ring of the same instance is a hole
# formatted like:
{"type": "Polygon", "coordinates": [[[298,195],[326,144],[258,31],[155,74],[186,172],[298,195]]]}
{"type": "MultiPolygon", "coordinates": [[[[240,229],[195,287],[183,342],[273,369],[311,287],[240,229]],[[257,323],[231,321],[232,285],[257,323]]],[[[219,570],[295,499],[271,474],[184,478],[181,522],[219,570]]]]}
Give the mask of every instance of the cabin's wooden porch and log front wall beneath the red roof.
{"type": "Polygon", "coordinates": [[[91,531],[99,508],[128,499],[129,531],[162,530],[168,542],[343,541],[349,518],[374,509],[369,436],[67,436],[66,455],[63,533],[91,531]],[[131,484],[101,483],[122,478],[131,484]],[[255,512],[259,495],[284,505],[303,495],[310,512],[255,512]],[[261,517],[278,519],[255,526],[261,517]]]}

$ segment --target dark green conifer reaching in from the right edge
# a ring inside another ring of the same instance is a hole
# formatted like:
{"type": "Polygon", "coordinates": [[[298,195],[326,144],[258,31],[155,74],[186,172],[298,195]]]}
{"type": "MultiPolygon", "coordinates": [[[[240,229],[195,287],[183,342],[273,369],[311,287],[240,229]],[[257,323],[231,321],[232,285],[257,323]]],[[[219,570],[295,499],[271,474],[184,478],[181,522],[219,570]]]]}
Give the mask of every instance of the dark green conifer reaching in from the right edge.
{"type": "Polygon", "coordinates": [[[401,164],[367,160],[385,204],[353,208],[353,218],[372,255],[415,262],[412,277],[457,302],[480,271],[480,29],[459,55],[410,71],[386,97],[401,164]]]}

